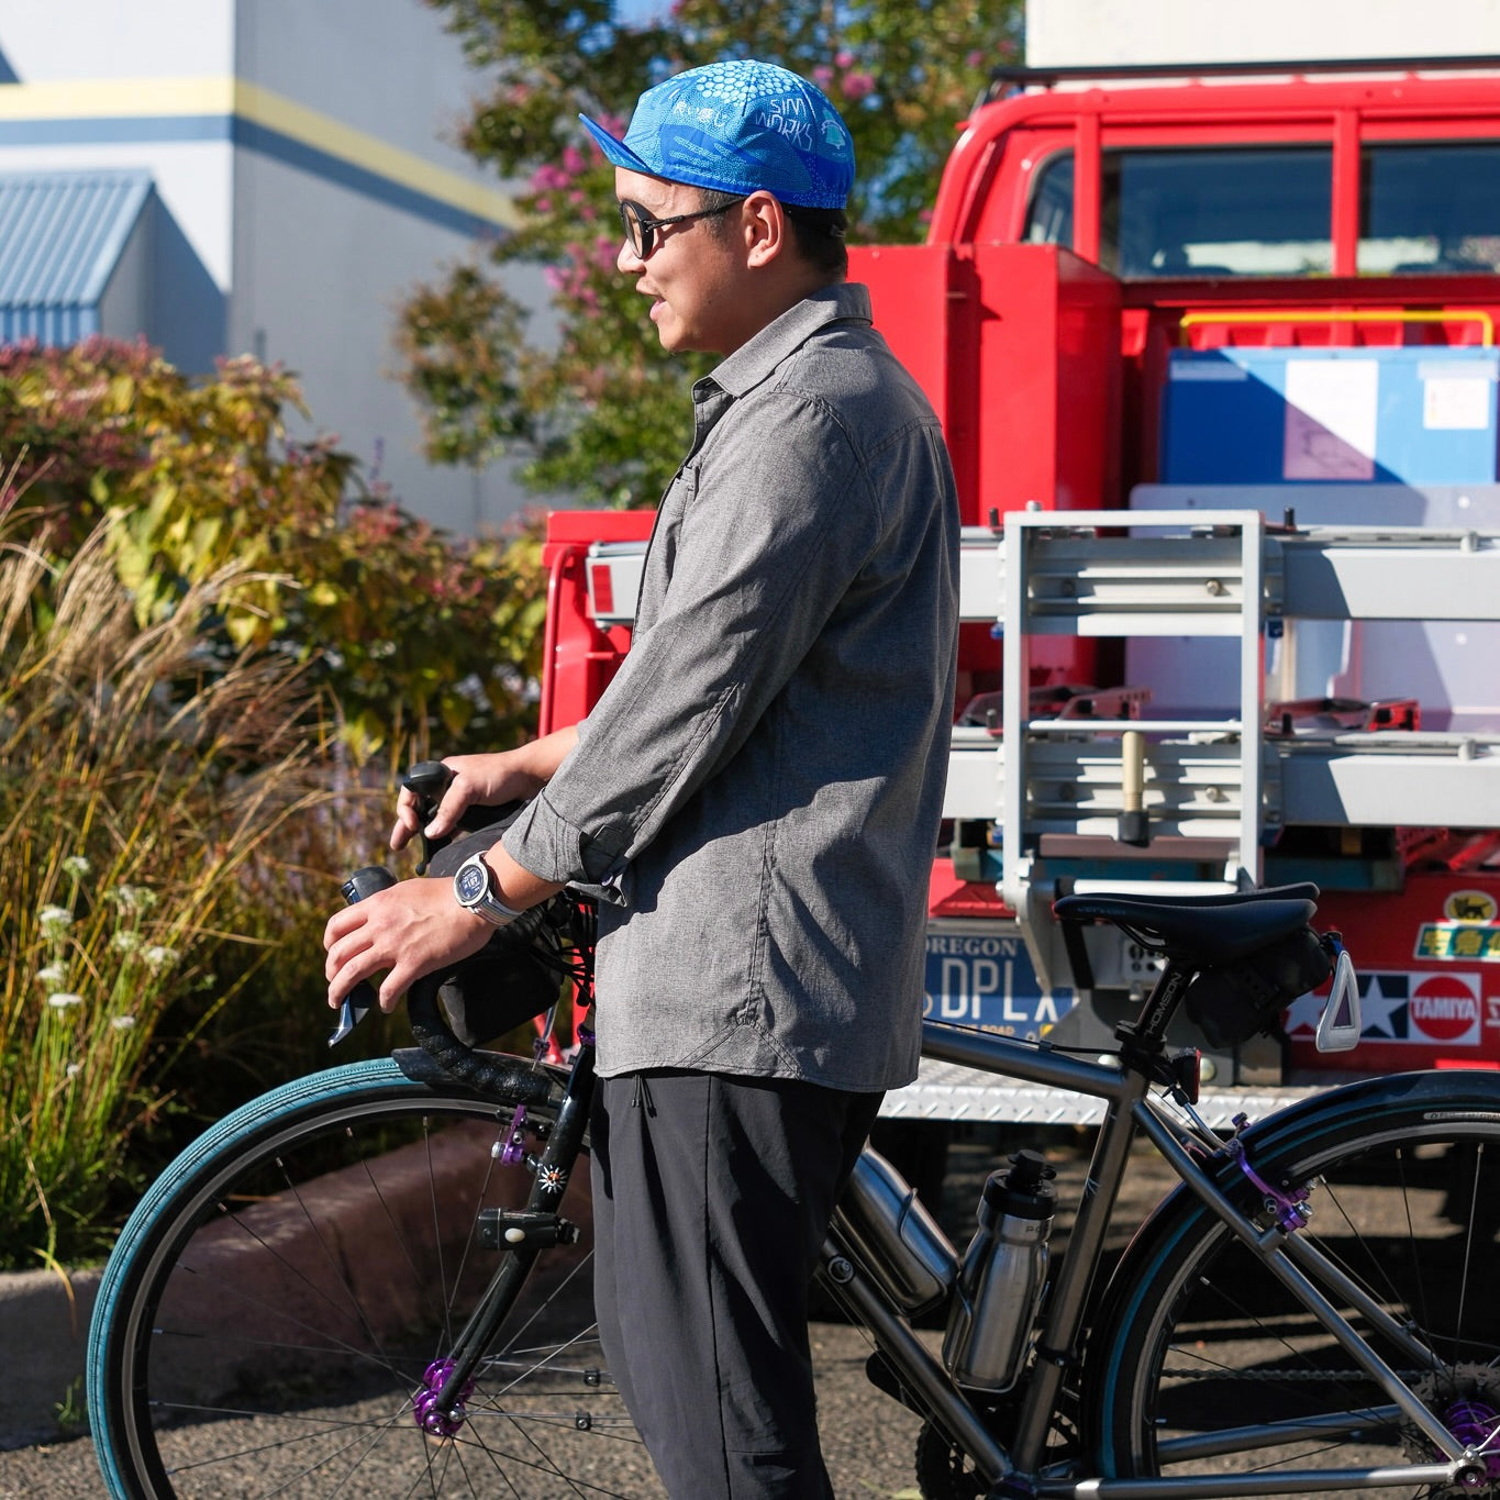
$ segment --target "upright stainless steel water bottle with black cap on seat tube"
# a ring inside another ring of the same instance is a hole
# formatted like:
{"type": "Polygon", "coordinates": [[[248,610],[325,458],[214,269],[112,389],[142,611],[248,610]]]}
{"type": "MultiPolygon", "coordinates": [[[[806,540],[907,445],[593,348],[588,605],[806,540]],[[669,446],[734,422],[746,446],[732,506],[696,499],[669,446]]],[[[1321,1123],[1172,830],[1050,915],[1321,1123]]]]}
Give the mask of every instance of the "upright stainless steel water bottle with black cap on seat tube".
{"type": "Polygon", "coordinates": [[[944,1365],[960,1386],[1008,1390],[1022,1372],[1047,1276],[1054,1176],[1040,1152],[1018,1150],[1008,1172],[992,1172],[984,1184],[942,1341],[944,1365]]]}

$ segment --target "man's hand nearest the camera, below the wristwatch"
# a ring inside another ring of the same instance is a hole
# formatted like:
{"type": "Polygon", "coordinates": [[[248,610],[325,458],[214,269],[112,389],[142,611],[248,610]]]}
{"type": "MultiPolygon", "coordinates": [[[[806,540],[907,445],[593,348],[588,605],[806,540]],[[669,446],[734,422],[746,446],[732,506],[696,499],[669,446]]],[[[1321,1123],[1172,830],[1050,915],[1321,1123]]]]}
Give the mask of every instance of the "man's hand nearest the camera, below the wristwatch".
{"type": "Polygon", "coordinates": [[[380,1008],[393,1011],[424,974],[466,958],[495,928],[464,910],[452,880],[402,880],[328,918],[322,946],[328,1005],[338,1008],[360,980],[381,970],[380,1008]]]}

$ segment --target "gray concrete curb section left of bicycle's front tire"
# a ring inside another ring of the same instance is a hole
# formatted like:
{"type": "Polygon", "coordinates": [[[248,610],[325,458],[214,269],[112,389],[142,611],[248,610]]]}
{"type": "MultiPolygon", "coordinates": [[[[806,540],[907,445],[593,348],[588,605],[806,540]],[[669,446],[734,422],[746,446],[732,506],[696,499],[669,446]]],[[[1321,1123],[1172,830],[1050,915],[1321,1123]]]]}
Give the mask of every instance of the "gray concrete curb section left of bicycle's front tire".
{"type": "Polygon", "coordinates": [[[64,1434],[58,1404],[82,1410],[88,1317],[99,1270],[0,1275],[0,1450],[27,1448],[64,1434]]]}

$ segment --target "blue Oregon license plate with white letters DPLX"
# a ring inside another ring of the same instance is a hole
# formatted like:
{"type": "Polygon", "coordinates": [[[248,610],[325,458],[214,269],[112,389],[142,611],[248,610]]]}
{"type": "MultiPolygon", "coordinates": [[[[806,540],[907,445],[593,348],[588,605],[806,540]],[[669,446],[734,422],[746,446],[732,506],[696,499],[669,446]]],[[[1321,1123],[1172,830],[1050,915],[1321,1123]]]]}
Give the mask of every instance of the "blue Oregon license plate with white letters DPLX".
{"type": "Polygon", "coordinates": [[[1044,990],[1020,934],[928,932],[922,1014],[1006,1036],[1044,1036],[1077,1004],[1044,990]]]}

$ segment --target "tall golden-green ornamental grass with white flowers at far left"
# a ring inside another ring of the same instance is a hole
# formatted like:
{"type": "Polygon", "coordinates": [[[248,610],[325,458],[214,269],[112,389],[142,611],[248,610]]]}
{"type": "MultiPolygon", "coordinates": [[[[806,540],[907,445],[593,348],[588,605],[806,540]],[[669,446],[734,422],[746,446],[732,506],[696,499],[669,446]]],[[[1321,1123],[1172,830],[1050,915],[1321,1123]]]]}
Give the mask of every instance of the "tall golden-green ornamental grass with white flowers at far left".
{"type": "Polygon", "coordinates": [[[218,568],[142,630],[108,524],[63,566],[48,526],[0,518],[4,1266],[106,1242],[153,1084],[232,999],[216,968],[243,872],[330,795],[292,658],[202,650],[196,621],[254,574],[218,568]]]}

